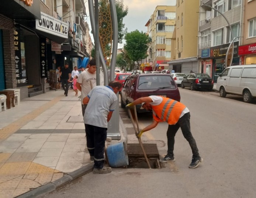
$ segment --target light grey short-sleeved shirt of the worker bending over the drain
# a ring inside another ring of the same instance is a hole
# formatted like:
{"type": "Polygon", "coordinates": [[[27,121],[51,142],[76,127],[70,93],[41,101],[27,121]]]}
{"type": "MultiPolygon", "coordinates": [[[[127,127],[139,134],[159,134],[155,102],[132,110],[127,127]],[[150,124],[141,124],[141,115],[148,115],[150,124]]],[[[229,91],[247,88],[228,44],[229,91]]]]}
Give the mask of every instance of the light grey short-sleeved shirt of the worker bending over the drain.
{"type": "Polygon", "coordinates": [[[115,110],[117,95],[110,86],[96,86],[88,94],[89,103],[84,113],[84,123],[107,128],[107,116],[115,110]]]}

